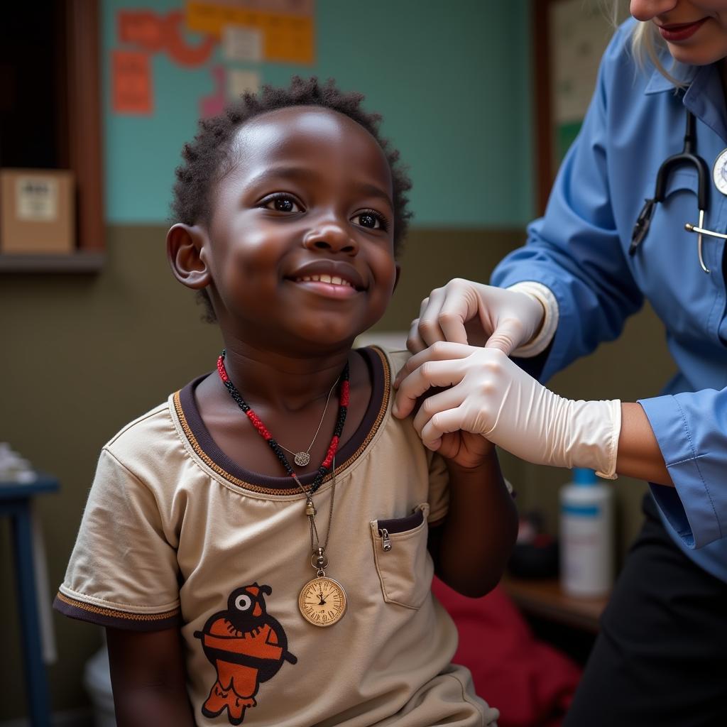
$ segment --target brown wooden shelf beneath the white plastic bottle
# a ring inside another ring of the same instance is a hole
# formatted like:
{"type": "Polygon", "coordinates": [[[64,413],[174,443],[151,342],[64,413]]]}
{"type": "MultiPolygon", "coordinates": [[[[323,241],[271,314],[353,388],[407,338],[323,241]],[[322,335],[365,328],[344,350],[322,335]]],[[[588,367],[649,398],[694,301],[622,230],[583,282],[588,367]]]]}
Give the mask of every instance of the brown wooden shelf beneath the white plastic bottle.
{"type": "Polygon", "coordinates": [[[608,596],[567,595],[558,579],[526,580],[508,576],[502,579],[502,586],[524,613],[591,632],[598,632],[598,619],[608,603],[608,596]]]}

